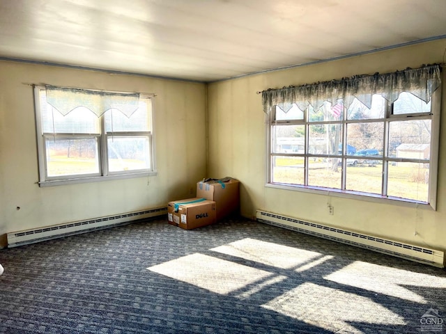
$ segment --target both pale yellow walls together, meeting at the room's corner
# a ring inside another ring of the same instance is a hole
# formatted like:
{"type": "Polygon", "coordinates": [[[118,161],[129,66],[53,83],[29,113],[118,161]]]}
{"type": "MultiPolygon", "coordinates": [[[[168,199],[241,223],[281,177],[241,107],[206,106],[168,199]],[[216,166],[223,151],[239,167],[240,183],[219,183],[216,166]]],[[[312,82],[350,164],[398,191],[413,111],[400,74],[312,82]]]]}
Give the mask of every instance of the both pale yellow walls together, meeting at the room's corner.
{"type": "MultiPolygon", "coordinates": [[[[241,211],[249,218],[256,209],[264,209],[445,249],[446,145],[440,145],[436,212],[416,205],[269,188],[266,118],[261,95],[256,94],[267,88],[441,63],[445,47],[446,41],[438,40],[210,84],[207,117],[204,84],[0,61],[0,246],[6,232],[159,207],[194,196],[196,182],[203,177],[231,176],[242,182],[241,211]],[[155,93],[158,175],[40,188],[33,90],[27,84],[155,93]],[[327,202],[334,206],[333,216],[327,202]]],[[[445,97],[446,84],[442,129],[445,97]]],[[[440,142],[445,142],[443,134],[440,142]]]]}

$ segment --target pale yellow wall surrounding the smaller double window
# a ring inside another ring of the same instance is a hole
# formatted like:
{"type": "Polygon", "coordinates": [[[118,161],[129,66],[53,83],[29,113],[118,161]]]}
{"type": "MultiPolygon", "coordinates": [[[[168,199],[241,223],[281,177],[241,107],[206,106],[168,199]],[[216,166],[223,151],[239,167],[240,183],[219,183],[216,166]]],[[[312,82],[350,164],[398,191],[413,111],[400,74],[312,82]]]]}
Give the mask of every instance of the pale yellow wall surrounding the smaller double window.
{"type": "Polygon", "coordinates": [[[0,61],[0,246],[7,232],[193,197],[206,177],[205,129],[205,84],[0,61]],[[157,175],[40,188],[29,84],[155,93],[157,175]]]}

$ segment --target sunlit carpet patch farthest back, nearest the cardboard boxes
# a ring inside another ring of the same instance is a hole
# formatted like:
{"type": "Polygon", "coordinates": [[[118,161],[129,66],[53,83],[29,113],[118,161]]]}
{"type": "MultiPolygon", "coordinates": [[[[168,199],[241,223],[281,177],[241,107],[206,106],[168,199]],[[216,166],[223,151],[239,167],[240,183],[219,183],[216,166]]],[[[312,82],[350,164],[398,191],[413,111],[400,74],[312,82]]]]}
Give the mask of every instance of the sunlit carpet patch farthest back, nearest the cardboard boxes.
{"type": "Polygon", "coordinates": [[[250,238],[234,241],[211,250],[282,269],[298,267],[315,257],[321,256],[321,253],[310,250],[250,238]]]}

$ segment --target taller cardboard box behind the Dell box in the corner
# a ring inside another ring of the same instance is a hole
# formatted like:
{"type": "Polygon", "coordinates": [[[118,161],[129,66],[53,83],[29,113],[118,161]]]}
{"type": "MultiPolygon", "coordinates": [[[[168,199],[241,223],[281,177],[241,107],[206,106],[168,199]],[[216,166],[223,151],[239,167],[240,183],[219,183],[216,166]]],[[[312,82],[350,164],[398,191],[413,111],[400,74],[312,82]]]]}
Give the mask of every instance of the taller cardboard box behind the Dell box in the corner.
{"type": "Polygon", "coordinates": [[[213,200],[217,207],[217,221],[240,207],[240,181],[231,177],[203,180],[197,183],[197,197],[213,200]]]}

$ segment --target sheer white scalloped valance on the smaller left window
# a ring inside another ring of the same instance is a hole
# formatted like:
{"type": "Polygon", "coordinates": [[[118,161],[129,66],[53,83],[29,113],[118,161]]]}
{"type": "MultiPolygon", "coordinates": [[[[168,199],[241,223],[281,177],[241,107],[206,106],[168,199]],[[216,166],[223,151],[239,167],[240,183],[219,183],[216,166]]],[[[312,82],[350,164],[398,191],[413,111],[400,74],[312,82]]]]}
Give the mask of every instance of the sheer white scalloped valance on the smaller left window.
{"type": "Polygon", "coordinates": [[[112,93],[79,88],[46,86],[47,103],[66,116],[78,106],[84,106],[96,116],[117,109],[130,117],[139,107],[139,93],[112,93]]]}

